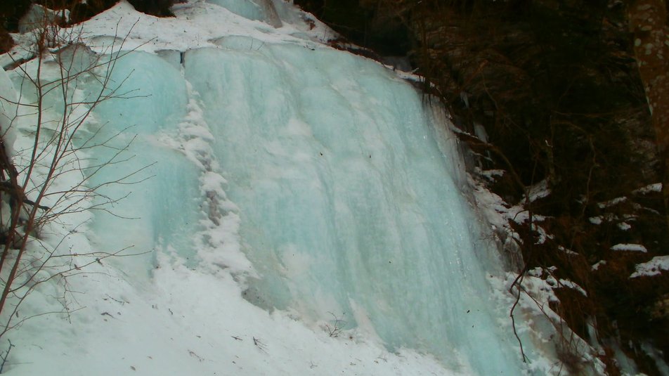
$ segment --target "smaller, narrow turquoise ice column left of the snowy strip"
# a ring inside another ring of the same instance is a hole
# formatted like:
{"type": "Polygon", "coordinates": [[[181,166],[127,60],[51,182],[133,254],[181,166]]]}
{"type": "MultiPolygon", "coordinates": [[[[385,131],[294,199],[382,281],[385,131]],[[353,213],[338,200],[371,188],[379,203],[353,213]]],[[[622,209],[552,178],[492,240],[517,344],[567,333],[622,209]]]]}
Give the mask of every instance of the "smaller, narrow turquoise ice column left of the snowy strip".
{"type": "MultiPolygon", "coordinates": [[[[94,245],[110,252],[131,247],[126,253],[176,250],[190,258],[201,212],[199,174],[183,153],[161,142],[164,134],[176,137],[186,116],[186,82],[166,60],[138,51],[116,61],[110,82],[107,92],[122,98],[100,103],[88,127],[97,132],[93,143],[104,144],[95,148],[96,161],[115,162],[89,183],[105,184],[98,200],[119,202],[96,212],[94,245]],[[122,184],[108,184],[115,181],[122,184]]],[[[155,253],[139,258],[144,262],[135,257],[122,270],[148,277],[155,253]]]]}

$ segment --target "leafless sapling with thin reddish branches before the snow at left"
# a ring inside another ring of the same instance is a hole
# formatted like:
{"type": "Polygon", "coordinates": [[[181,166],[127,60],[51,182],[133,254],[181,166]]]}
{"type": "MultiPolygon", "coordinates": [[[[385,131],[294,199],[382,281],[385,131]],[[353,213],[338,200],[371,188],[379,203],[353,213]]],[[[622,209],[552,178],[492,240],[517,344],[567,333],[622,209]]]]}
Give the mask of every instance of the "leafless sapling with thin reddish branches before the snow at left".
{"type": "Polygon", "coordinates": [[[105,124],[94,116],[100,103],[138,96],[122,91],[128,77],[112,79],[119,59],[134,51],[123,49],[127,35],[95,52],[84,43],[82,27],[60,27],[45,16],[32,36],[30,51],[22,51],[27,58],[13,64],[10,88],[0,83],[0,338],[34,316],[69,317],[67,278],[108,257],[131,255],[126,249],[74,249],[66,238],[90,216],[74,214],[109,211],[123,198],[100,188],[145,179],[140,173],[146,167],[113,181],[98,179],[105,167],[131,159],[132,141],[120,147],[112,142],[123,131],[101,136],[105,124]],[[105,153],[95,153],[100,148],[105,153]],[[50,296],[62,309],[20,315],[22,303],[46,283],[58,287],[50,296]]]}

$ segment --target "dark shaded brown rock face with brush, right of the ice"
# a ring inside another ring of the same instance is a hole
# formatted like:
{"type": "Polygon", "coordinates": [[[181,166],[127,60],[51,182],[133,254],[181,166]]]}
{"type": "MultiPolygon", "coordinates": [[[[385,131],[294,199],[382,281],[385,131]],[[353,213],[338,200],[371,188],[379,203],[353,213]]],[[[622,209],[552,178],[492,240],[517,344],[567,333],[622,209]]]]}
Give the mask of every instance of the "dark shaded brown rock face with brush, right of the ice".
{"type": "MultiPolygon", "coordinates": [[[[355,43],[410,59],[459,127],[479,136],[466,140],[486,156],[479,166],[507,171],[491,183],[495,193],[545,217],[534,226],[549,237],[528,223],[513,225],[524,237],[526,267],[557,267],[557,277],[587,291],[586,298],[562,289],[556,311],[583,338],[588,323],[597,322],[595,341],[620,344],[639,371],[656,374],[639,349],[651,343],[669,354],[661,334],[669,320],[657,313],[668,278],[630,275],[669,249],[661,190],[651,186],[662,181],[663,162],[625,2],[295,3],[355,43]],[[538,183],[550,194],[524,200],[538,183]],[[625,244],[647,252],[616,250],[625,244]],[[592,268],[599,261],[606,262],[592,268]]],[[[602,358],[616,374],[611,357],[602,358]]]]}

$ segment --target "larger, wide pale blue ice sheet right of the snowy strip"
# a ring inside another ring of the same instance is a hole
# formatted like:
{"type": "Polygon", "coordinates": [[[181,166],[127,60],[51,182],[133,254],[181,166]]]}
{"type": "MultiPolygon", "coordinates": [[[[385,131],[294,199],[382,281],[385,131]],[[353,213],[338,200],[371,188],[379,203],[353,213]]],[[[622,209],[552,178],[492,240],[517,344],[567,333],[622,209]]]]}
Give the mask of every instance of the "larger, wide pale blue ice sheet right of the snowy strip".
{"type": "Polygon", "coordinates": [[[455,149],[377,63],[245,37],[186,53],[185,77],[240,207],[247,299],[365,325],[481,375],[517,374],[498,330],[455,149]],[[248,48],[248,46],[259,46],[248,48]]]}

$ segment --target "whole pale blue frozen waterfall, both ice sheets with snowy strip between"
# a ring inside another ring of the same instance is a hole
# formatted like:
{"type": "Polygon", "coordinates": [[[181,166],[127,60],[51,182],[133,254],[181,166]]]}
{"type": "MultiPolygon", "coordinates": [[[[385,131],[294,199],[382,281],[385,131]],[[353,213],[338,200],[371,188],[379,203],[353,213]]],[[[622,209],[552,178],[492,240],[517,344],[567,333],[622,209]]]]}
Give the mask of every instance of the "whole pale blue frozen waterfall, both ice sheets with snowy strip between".
{"type": "MultiPolygon", "coordinates": [[[[196,6],[263,20],[260,2],[212,3],[196,6]]],[[[292,15],[273,4],[284,21],[292,15]]],[[[188,12],[162,32],[178,32],[188,12]]],[[[499,262],[439,109],[378,63],[272,32],[228,32],[117,62],[112,81],[140,96],[100,105],[98,137],[120,132],[113,142],[123,147],[137,134],[134,165],[148,166],[137,180],[152,178],[114,208],[141,219],[98,212],[93,245],[121,249],[131,238],[155,249],[126,261],[126,275],[150,280],[176,255],[188,268],[229,271],[249,302],[314,328],[337,318],[454,372],[518,375],[487,281],[499,262]]],[[[125,174],[114,165],[93,183],[125,174]]],[[[126,188],[106,189],[120,197],[126,188]]]]}

